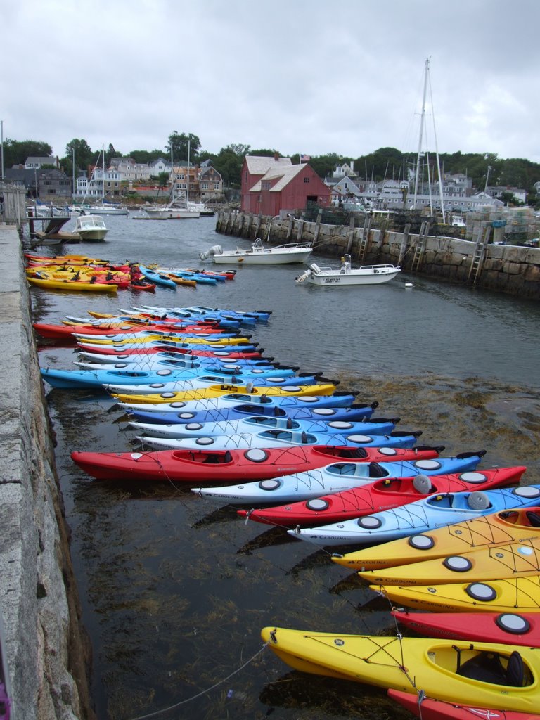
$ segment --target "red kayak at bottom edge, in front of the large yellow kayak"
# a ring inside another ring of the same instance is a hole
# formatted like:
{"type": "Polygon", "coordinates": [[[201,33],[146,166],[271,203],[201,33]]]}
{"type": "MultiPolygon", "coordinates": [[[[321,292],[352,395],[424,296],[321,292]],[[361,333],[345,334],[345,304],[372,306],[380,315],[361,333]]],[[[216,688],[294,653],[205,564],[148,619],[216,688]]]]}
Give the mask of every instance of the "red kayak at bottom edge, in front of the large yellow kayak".
{"type": "Polygon", "coordinates": [[[421,696],[418,696],[417,693],[404,693],[402,690],[390,689],[388,697],[400,703],[421,720],[540,720],[540,715],[534,713],[474,708],[432,698],[423,698],[419,703],[421,696]]]}

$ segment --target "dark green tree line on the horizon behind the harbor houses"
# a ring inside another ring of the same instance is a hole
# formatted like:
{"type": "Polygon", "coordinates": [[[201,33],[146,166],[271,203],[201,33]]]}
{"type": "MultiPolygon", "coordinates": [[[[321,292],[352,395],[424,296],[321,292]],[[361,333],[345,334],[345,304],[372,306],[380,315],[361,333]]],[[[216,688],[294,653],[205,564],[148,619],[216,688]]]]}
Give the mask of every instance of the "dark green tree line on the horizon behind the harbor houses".
{"type": "MultiPolygon", "coordinates": [[[[51,156],[52,148],[48,143],[37,140],[4,140],[4,168],[23,164],[27,157],[51,156]]],[[[73,174],[73,158],[75,171],[86,170],[89,166],[102,163],[101,153],[105,154],[105,164],[114,157],[133,158],[136,163],[148,163],[156,158],[173,159],[175,164],[200,164],[205,160],[212,161],[212,166],[221,174],[225,186],[240,188],[240,175],[244,156],[247,154],[258,156],[274,156],[279,150],[274,148],[251,148],[250,145],[231,143],[221,148],[219,153],[210,153],[201,149],[201,141],[197,135],[189,132],[171,132],[164,148],[156,150],[130,150],[122,153],[109,144],[107,150],[92,150],[84,139],[73,138],[66,145],[66,155],[58,158],[60,167],[71,176],[73,174]]],[[[292,163],[300,162],[300,155],[290,156],[292,163]]],[[[416,165],[415,153],[403,153],[397,148],[379,148],[373,153],[359,158],[345,157],[337,153],[311,156],[310,165],[315,172],[325,178],[331,176],[336,166],[343,163],[354,163],[355,174],[366,180],[376,182],[385,179],[408,179],[410,170],[416,165]]],[[[526,190],[527,202],[534,207],[540,207],[540,195],[536,194],[534,184],[540,181],[540,163],[533,163],[526,158],[499,158],[495,153],[440,153],[438,156],[441,172],[451,174],[464,174],[472,180],[478,190],[485,186],[505,186],[526,190]]],[[[423,167],[429,171],[431,179],[436,179],[436,156],[424,156],[423,167]]]]}

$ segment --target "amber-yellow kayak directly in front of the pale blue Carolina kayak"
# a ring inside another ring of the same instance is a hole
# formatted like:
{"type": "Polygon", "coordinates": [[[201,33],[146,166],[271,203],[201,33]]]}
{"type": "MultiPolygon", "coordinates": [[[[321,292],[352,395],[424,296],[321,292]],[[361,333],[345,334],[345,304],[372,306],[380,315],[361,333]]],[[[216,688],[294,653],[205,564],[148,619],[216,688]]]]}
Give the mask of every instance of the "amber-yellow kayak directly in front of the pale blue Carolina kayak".
{"type": "Polygon", "coordinates": [[[533,537],[540,538],[540,507],[500,510],[421,535],[333,555],[332,560],[350,570],[377,570],[533,537]]]}

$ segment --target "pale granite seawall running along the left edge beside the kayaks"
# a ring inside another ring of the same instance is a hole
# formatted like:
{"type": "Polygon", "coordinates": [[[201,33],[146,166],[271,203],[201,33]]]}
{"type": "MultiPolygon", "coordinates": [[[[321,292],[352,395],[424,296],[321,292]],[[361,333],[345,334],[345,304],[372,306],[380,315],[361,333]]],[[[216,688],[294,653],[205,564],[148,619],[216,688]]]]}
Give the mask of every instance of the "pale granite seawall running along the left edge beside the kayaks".
{"type": "Polygon", "coordinates": [[[15,720],[93,720],[30,297],[17,230],[0,225],[0,611],[15,720]]]}

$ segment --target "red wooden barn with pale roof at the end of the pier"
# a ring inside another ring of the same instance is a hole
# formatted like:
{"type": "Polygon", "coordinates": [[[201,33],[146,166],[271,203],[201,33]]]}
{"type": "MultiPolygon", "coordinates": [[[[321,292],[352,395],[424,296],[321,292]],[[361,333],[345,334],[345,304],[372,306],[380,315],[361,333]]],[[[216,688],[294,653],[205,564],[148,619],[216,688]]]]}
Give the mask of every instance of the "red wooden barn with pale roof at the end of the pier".
{"type": "Polygon", "coordinates": [[[330,188],[306,163],[292,165],[290,158],[246,155],[242,168],[242,210],[258,215],[279,215],[304,209],[307,202],[330,205],[330,188]]]}

